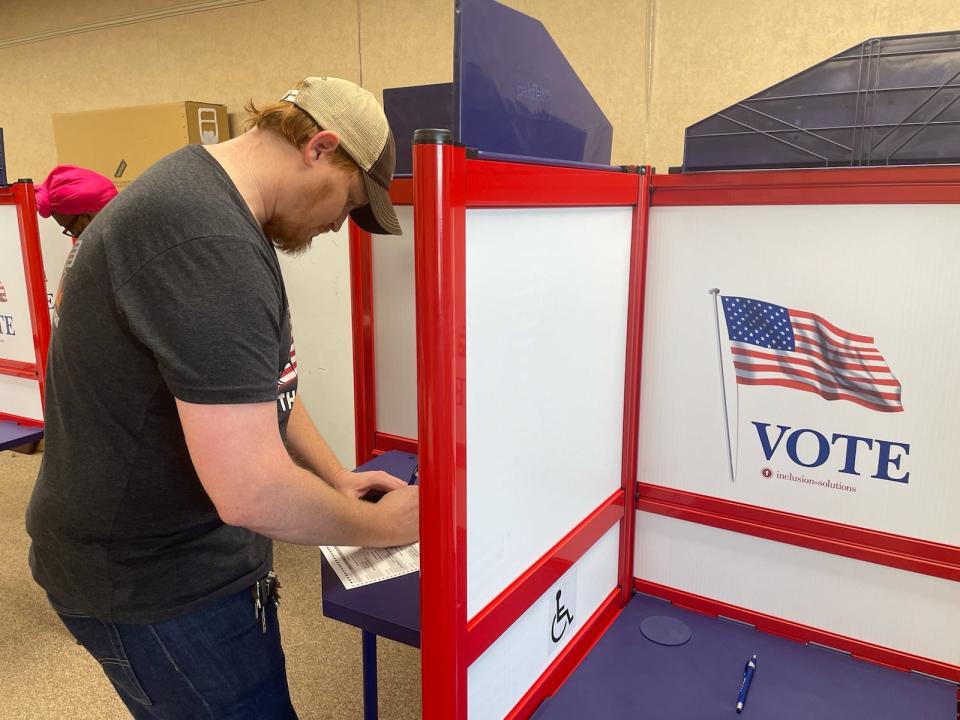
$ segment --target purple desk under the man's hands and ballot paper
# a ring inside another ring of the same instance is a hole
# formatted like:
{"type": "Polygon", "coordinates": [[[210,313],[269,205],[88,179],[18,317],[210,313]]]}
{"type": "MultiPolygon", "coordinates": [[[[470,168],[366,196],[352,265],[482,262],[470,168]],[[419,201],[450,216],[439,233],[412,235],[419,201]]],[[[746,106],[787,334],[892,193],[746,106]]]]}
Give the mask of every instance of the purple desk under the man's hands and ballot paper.
{"type": "MultiPolygon", "coordinates": [[[[357,469],[385,470],[410,482],[416,467],[416,455],[394,451],[357,469]]],[[[347,590],[321,554],[320,576],[323,614],[328,618],[405,645],[420,647],[420,573],[347,590]]]]}

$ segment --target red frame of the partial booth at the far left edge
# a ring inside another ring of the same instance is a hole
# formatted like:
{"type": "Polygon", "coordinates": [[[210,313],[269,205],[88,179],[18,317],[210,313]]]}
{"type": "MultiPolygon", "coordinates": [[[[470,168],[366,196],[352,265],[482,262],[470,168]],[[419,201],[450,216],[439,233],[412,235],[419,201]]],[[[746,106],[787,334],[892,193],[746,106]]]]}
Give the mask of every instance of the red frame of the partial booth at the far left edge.
{"type": "MultiPolygon", "coordinates": [[[[20,252],[27,286],[27,304],[30,308],[30,326],[33,333],[34,362],[0,358],[0,375],[26,378],[40,386],[40,406],[46,398],[44,373],[47,367],[47,348],[50,344],[50,313],[47,309],[46,276],[40,250],[40,229],[37,224],[37,204],[33,183],[16,182],[0,186],[0,205],[17,208],[20,227],[20,252]]],[[[0,408],[0,421],[12,420],[21,425],[43,427],[42,420],[20,417],[0,408]]]]}

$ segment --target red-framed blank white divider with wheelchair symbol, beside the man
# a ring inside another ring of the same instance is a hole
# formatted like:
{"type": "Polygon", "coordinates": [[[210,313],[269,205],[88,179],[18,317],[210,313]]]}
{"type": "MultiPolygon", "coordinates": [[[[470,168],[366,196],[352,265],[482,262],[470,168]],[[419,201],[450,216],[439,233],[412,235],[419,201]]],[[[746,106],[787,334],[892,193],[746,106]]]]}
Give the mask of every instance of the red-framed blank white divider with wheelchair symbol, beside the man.
{"type": "Polygon", "coordinates": [[[529,712],[631,592],[647,175],[438,133],[395,186],[404,236],[352,231],[358,461],[419,454],[424,717],[529,712]]]}

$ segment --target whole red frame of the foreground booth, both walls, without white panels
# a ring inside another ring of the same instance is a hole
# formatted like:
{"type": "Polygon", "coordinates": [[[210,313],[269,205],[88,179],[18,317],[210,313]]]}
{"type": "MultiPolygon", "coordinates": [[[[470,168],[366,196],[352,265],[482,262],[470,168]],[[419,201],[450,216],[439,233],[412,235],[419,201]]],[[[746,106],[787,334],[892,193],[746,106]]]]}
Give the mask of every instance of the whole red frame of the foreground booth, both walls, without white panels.
{"type": "Polygon", "coordinates": [[[960,203],[960,167],[851,168],[654,176],[468,159],[451,145],[414,147],[413,179],[393,183],[413,205],[418,437],[376,428],[371,238],[351,224],[357,463],[389,450],[419,452],[423,717],[467,716],[467,667],[607,530],[621,522],[618,587],[507,715],[528,717],[566,680],[633,590],[724,615],[802,642],[960,682],[960,667],[825,632],[633,577],[636,511],[960,581],[960,547],[844,525],[640,482],[637,442],[647,227],[651,206],[960,203]],[[509,585],[466,617],[464,228],[468,208],[633,207],[621,489],[509,585]],[[431,479],[436,481],[431,482],[431,479]]]}

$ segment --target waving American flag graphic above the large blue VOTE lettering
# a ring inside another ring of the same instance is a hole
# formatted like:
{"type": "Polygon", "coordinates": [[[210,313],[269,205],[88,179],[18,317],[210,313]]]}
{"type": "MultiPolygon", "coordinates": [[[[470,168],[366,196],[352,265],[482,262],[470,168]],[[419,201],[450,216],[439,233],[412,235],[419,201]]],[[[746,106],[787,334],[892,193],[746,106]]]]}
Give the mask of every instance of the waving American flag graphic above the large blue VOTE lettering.
{"type": "Polygon", "coordinates": [[[900,381],[873,338],[815,313],[743,297],[721,297],[740,385],[777,385],[902,412],[900,381]]]}

